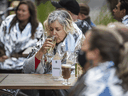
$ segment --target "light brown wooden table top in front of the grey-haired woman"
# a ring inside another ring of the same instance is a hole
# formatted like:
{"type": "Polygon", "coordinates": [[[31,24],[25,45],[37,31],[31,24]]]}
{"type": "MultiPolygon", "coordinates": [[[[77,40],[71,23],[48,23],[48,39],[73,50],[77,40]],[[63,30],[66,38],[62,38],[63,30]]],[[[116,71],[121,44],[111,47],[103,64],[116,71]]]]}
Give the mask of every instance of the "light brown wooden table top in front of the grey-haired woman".
{"type": "Polygon", "coordinates": [[[0,74],[0,89],[69,89],[76,80],[72,76],[67,86],[53,80],[51,74],[0,74]]]}

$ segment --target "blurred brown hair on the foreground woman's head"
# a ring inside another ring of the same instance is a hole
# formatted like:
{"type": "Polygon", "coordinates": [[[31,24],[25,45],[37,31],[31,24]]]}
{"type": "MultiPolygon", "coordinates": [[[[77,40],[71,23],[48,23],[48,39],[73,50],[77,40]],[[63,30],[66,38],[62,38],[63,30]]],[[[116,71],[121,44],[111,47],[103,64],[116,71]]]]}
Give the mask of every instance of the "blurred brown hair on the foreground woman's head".
{"type": "Polygon", "coordinates": [[[121,44],[112,34],[112,30],[102,26],[92,28],[91,32],[90,50],[98,48],[102,61],[113,61],[115,67],[118,68],[118,64],[121,61],[121,44]]]}

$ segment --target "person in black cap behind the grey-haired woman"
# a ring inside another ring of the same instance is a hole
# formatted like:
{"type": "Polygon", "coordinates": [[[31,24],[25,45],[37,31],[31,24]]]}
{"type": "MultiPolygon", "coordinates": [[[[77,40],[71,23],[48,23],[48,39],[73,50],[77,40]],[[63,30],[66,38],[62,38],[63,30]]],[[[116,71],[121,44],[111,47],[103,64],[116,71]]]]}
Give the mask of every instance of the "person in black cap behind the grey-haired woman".
{"type": "MultiPolygon", "coordinates": [[[[81,27],[79,26],[79,24],[77,25],[77,23],[75,23],[78,19],[78,14],[80,12],[80,7],[79,7],[79,3],[76,0],[60,0],[58,2],[56,1],[51,1],[52,5],[57,9],[57,10],[66,10],[71,17],[73,18],[74,24],[73,26],[75,28],[79,28],[81,29],[81,27]]],[[[85,25],[85,28],[88,26],[85,25]]],[[[87,29],[86,28],[86,29],[87,29]]],[[[82,29],[80,31],[80,34],[82,32],[82,29]]]]}

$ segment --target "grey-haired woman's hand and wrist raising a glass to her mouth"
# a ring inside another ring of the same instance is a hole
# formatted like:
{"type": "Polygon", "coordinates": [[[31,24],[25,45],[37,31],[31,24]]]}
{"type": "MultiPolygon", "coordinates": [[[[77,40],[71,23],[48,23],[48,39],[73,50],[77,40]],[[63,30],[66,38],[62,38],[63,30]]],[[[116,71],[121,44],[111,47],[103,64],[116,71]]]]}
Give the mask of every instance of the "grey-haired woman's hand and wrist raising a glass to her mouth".
{"type": "Polygon", "coordinates": [[[42,55],[43,54],[46,54],[48,49],[50,48],[54,48],[55,47],[55,44],[52,42],[52,39],[51,38],[47,38],[43,44],[43,46],[40,48],[40,50],[36,53],[36,58],[41,60],[42,58],[42,55]]]}

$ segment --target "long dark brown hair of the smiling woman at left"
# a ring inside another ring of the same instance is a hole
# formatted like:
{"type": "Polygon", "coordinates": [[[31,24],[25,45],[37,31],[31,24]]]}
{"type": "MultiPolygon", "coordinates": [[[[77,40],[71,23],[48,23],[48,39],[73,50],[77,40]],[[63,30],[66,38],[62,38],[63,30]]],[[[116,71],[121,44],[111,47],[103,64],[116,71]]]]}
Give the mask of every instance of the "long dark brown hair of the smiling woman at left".
{"type": "Polygon", "coordinates": [[[32,28],[31,28],[31,38],[34,38],[34,33],[36,32],[36,28],[38,27],[39,25],[39,22],[37,20],[37,12],[36,12],[36,6],[34,5],[34,3],[30,0],[25,0],[25,1],[21,1],[19,3],[19,5],[17,6],[16,8],[16,16],[13,18],[13,20],[11,21],[11,25],[10,25],[10,28],[9,28],[9,33],[10,33],[10,30],[11,28],[16,24],[16,22],[18,21],[18,18],[17,18],[17,10],[19,8],[19,6],[21,4],[26,4],[28,6],[28,10],[29,10],[29,13],[30,13],[30,18],[29,18],[29,22],[31,23],[32,25],[32,28]]]}

